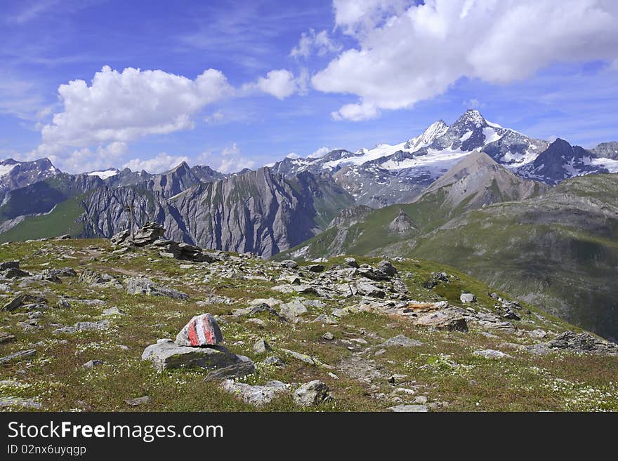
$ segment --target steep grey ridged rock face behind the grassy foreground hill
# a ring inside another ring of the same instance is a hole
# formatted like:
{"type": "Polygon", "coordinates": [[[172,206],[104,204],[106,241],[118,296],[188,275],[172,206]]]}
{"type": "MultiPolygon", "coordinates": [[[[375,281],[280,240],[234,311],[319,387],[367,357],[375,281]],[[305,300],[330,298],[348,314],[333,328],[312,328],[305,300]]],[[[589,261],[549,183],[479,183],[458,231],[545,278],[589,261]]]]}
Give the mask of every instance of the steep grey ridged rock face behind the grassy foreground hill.
{"type": "Polygon", "coordinates": [[[200,183],[166,199],[164,192],[137,187],[97,189],[84,199],[86,236],[105,236],[129,227],[127,205],[135,207],[137,225],[153,221],[165,236],[269,257],[313,236],[353,199],[329,177],[303,173],[286,180],[268,168],[200,183]]]}

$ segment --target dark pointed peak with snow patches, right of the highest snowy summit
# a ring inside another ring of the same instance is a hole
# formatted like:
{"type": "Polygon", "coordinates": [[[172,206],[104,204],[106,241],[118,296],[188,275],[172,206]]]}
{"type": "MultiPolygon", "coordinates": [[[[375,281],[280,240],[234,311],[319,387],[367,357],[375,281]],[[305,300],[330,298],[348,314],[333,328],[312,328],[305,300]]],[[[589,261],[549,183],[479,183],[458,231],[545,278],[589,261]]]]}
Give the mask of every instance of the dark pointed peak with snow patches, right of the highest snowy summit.
{"type": "Polygon", "coordinates": [[[607,168],[591,163],[594,155],[579,146],[558,138],[532,163],[518,169],[518,174],[548,184],[587,173],[609,173],[607,168]]]}

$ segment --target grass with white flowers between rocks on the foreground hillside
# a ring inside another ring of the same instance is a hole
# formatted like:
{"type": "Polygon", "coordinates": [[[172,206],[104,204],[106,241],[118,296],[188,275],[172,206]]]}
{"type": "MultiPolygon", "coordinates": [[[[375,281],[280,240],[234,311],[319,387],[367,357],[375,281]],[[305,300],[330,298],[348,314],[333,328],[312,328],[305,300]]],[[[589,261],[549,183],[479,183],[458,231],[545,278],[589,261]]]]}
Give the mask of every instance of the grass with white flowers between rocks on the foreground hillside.
{"type": "MultiPolygon", "coordinates": [[[[127,274],[144,274],[190,295],[190,300],[177,301],[147,295],[128,295],[117,288],[93,288],[66,277],[62,283],[37,282],[27,290],[40,290],[50,309],[39,317],[44,328],[24,330],[19,322],[26,312],[0,312],[0,329],[15,335],[16,341],[0,345],[0,355],[23,349],[37,349],[33,358],[8,363],[0,368],[0,380],[20,382],[20,386],[0,385],[0,396],[22,396],[40,401],[48,410],[152,410],[152,411],[288,411],[303,410],[294,406],[289,395],[280,396],[263,408],[254,408],[223,392],[216,383],[204,383],[204,370],[185,369],[156,373],[150,363],[142,361],[143,349],[159,338],[173,338],[193,315],[211,312],[221,319],[225,345],[232,352],[249,356],[256,362],[257,373],[245,379],[251,384],[268,380],[303,383],[319,379],[327,383],[335,401],[309,410],[360,411],[387,410],[397,399],[409,401],[426,396],[433,410],[618,410],[618,357],[551,354],[538,357],[509,349],[506,343],[531,344],[525,330],[544,328],[559,332],[572,326],[542,314],[524,303],[519,335],[499,333],[488,338],[479,330],[470,333],[440,332],[412,326],[404,319],[372,312],[348,314],[336,325],[320,322],[282,323],[261,314],[263,324],[231,315],[233,309],[245,307],[254,298],[279,298],[289,301],[291,294],[277,293],[273,283],[261,279],[242,279],[240,275],[261,272],[266,279],[277,277],[278,269],[268,261],[242,260],[235,266],[233,278],[215,271],[204,281],[208,265],[180,267],[183,262],[157,258],[149,250],[136,250],[126,255],[113,255],[103,240],[35,241],[0,246],[0,260],[18,259],[22,268],[40,272],[46,267],[73,267],[106,272],[122,279],[127,274]],[[150,269],[146,271],[145,269],[150,269]],[[196,301],[216,293],[235,300],[232,305],[200,307],[196,301]],[[53,306],[59,298],[75,300],[100,299],[105,306],[72,301],[70,309],[53,306]],[[124,315],[105,317],[103,309],[117,306],[124,315]],[[530,309],[531,314],[525,314],[530,309]],[[77,321],[108,318],[111,328],[74,334],[53,334],[60,325],[77,321]],[[330,332],[334,340],[324,340],[330,332]],[[388,347],[376,355],[387,338],[403,334],[423,343],[420,347],[388,347]],[[274,352],[256,354],[252,346],[265,339],[274,352]],[[123,346],[123,347],[121,347],[123,346]],[[309,366],[278,351],[291,349],[317,359],[309,366]],[[482,359],[478,349],[501,349],[513,359],[482,359]],[[280,356],[285,368],[266,366],[263,359],[270,354],[280,356]],[[100,359],[105,363],[84,368],[83,363],[100,359]],[[346,363],[352,366],[346,368],[346,363]],[[360,363],[360,366],[357,366],[360,363]],[[379,378],[362,379],[362,364],[371,363],[379,370],[379,378]],[[356,368],[355,368],[356,367],[356,368]],[[351,370],[351,371],[350,371],[351,370]],[[407,375],[401,385],[388,382],[394,373],[407,375]],[[397,388],[407,387],[415,394],[407,396],[397,388]],[[150,396],[150,402],[131,407],[124,401],[150,396]],[[407,400],[406,400],[407,399],[407,400]],[[445,403],[446,402],[446,403],[445,403]]],[[[375,264],[373,258],[357,258],[375,264]]],[[[343,258],[331,258],[327,266],[338,265],[343,258]]],[[[218,263],[217,263],[218,264],[218,263]]],[[[395,262],[412,298],[448,300],[461,306],[462,290],[475,293],[475,309],[493,305],[488,293],[494,291],[484,283],[452,267],[426,260],[395,262]],[[449,282],[433,289],[423,282],[433,272],[447,272],[449,282]]],[[[312,276],[308,274],[308,276],[312,276]]],[[[18,280],[13,280],[13,290],[18,280]]],[[[499,293],[508,298],[506,293],[499,293]]],[[[307,296],[306,298],[315,298],[307,296]]],[[[7,298],[8,299],[8,298],[7,298]]],[[[310,307],[308,320],[319,314],[330,314],[337,307],[354,305],[355,300],[326,302],[323,307],[310,307]]],[[[463,306],[462,306],[463,307],[463,306]]]]}

